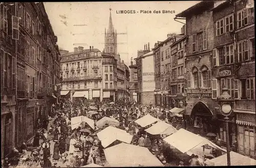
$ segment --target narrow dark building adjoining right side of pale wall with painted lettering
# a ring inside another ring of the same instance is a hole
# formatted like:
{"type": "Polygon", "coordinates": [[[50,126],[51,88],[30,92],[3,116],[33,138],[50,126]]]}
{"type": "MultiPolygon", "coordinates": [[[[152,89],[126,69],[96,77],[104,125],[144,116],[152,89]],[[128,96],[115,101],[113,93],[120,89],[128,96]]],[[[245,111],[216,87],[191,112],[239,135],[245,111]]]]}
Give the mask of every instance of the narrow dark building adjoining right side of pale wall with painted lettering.
{"type": "Polygon", "coordinates": [[[155,90],[154,90],[154,95],[155,95],[155,105],[157,107],[162,106],[162,96],[161,96],[161,57],[160,57],[160,44],[161,41],[157,41],[155,43],[153,53],[154,53],[154,72],[155,72],[155,90]]]}

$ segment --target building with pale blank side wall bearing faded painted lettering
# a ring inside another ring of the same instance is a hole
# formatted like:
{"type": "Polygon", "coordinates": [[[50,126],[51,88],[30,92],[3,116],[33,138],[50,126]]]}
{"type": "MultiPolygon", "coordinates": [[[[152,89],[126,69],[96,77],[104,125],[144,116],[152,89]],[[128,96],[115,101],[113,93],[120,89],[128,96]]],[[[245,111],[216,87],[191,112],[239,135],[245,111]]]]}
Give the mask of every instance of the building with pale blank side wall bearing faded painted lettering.
{"type": "Polygon", "coordinates": [[[138,52],[135,58],[138,68],[138,103],[142,105],[154,105],[155,75],[154,75],[154,53],[150,51],[149,44],[144,45],[144,50],[138,52]],[[142,54],[143,53],[143,54],[142,54]]]}

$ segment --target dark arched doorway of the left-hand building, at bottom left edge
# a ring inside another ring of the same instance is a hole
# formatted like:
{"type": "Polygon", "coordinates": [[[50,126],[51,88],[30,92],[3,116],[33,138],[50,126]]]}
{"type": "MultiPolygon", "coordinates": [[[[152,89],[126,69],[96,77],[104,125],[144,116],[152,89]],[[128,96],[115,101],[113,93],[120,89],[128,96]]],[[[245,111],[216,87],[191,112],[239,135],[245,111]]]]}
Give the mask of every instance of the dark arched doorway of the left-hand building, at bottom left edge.
{"type": "Polygon", "coordinates": [[[12,134],[13,134],[13,118],[12,113],[5,116],[5,134],[4,134],[4,156],[11,152],[12,147],[12,134]]]}

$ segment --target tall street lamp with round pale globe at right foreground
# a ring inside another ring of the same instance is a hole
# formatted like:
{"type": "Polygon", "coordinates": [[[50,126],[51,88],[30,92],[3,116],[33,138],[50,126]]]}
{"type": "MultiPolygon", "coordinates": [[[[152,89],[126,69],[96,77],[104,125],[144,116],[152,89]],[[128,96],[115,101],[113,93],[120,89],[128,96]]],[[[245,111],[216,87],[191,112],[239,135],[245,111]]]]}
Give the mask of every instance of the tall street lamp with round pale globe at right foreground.
{"type": "Polygon", "coordinates": [[[229,147],[229,133],[228,133],[228,116],[232,113],[233,99],[228,94],[228,89],[224,87],[222,89],[222,94],[217,98],[219,109],[222,115],[225,116],[226,121],[226,141],[227,141],[227,166],[230,166],[230,147],[229,147]]]}

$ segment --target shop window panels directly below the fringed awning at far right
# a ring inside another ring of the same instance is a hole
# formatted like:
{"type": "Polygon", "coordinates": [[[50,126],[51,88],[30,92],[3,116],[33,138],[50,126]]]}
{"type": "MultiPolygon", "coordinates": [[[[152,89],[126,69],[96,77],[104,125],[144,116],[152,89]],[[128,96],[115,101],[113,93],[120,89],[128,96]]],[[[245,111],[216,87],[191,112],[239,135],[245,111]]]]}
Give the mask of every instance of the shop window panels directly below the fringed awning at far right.
{"type": "Polygon", "coordinates": [[[254,157],[255,151],[255,127],[239,126],[239,152],[254,157]]]}

